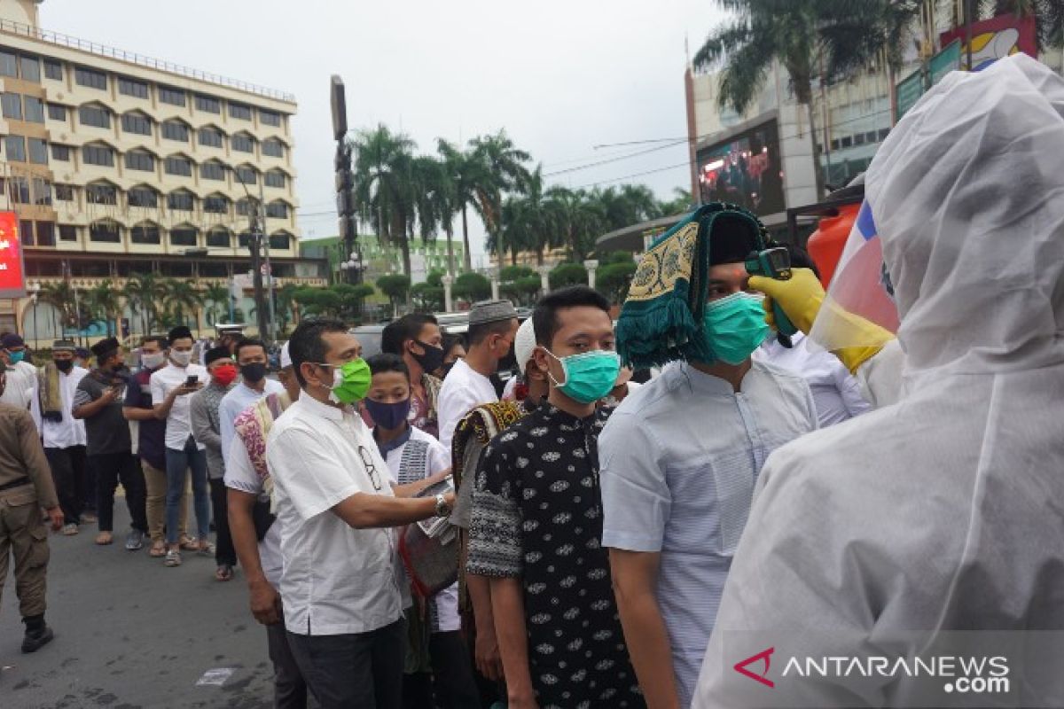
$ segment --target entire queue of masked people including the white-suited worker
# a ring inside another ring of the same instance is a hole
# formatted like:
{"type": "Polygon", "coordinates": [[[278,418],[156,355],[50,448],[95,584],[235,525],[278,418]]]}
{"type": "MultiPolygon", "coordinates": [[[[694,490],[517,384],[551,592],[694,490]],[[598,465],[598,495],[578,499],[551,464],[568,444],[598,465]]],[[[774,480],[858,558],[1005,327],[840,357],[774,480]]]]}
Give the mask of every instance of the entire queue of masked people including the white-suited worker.
{"type": "MultiPolygon", "coordinates": [[[[213,555],[218,581],[242,569],[278,707],[741,707],[731,631],[786,630],[828,657],[877,634],[909,632],[916,652],[943,630],[1059,629],[1064,431],[1046,412],[1064,221],[1038,197],[1052,170],[1007,168],[1041,164],[1031,116],[1064,133],[1064,81],[1019,56],[931,99],[867,180],[897,338],[853,315],[852,347],[777,338],[776,306],[814,330],[815,265],[794,251],[791,280],[749,275],[772,244],[720,203],[651,247],[616,322],[575,286],[525,322],[477,303],[460,343],[404,316],[367,360],[346,323],[309,319],[277,381],[256,339],[201,366],[177,327],[145,339],[131,375],[114,339],[89,372],[69,342],[38,370],[4,336],[0,579],[10,546],[23,649],[51,637],[39,511],[77,534],[86,469],[97,543],[113,542],[120,483],[127,548],[167,567],[213,555]],[[978,119],[944,108],[987,95],[1000,103],[978,119]],[[1031,109],[994,109],[1010,100],[1031,109]],[[980,156],[1030,182],[998,185],[1008,214],[943,169],[980,156]]],[[[1025,696],[1059,696],[1042,679],[1025,696]]],[[[878,706],[908,690],[846,691],[788,696],[878,706]]]]}

